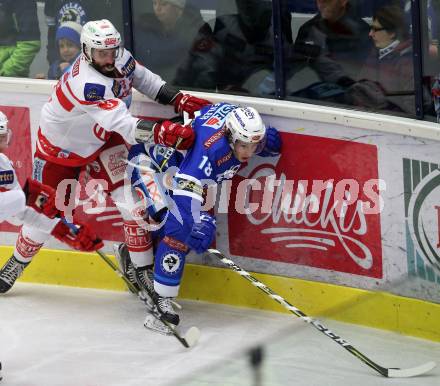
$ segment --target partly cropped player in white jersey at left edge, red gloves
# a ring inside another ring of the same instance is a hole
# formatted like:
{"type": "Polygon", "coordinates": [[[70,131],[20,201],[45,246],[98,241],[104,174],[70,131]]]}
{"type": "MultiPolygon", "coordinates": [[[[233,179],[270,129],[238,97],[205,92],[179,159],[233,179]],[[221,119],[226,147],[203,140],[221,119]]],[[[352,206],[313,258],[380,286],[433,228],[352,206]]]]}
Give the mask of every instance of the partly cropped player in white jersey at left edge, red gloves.
{"type": "MultiPolygon", "coordinates": [[[[76,224],[78,232],[60,221],[60,211],[55,207],[55,190],[38,181],[28,179],[21,189],[12,162],[3,154],[11,138],[8,119],[0,111],[0,223],[9,220],[38,227],[67,245],[81,250],[94,251],[103,246],[101,240],[85,225],[76,224]]],[[[0,270],[0,293],[8,291],[29,263],[29,254],[36,253],[40,245],[31,241],[17,241],[13,256],[0,270]],[[26,245],[27,249],[22,247],[26,245]]]]}

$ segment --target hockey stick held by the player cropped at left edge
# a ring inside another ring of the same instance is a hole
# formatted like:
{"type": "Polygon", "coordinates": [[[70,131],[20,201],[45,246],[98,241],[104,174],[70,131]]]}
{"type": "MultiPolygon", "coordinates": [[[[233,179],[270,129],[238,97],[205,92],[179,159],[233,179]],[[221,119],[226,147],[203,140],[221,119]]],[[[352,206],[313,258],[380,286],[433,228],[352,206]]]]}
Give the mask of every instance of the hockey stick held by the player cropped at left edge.
{"type": "MultiPolygon", "coordinates": [[[[76,226],[72,223],[69,223],[67,221],[67,219],[65,219],[64,217],[61,218],[61,221],[66,224],[70,230],[76,234],[78,232],[78,229],[76,228],[76,226]]],[[[96,250],[96,253],[107,263],[107,265],[113,269],[113,271],[116,272],[116,274],[118,276],[120,276],[122,278],[122,280],[124,280],[125,284],[127,284],[128,288],[130,289],[130,291],[132,291],[133,293],[137,293],[139,299],[141,299],[144,303],[145,300],[143,299],[141,292],[138,291],[136,289],[136,287],[133,285],[133,283],[128,280],[128,278],[125,277],[124,273],[119,269],[119,267],[101,250],[96,250]]],[[[197,341],[200,338],[200,330],[197,327],[191,327],[185,335],[181,335],[175,328],[175,326],[173,326],[171,323],[169,323],[167,320],[165,320],[163,318],[162,315],[160,315],[160,313],[157,310],[152,310],[151,311],[152,314],[159,319],[173,334],[173,336],[186,348],[190,348],[192,346],[194,346],[197,341]]]]}

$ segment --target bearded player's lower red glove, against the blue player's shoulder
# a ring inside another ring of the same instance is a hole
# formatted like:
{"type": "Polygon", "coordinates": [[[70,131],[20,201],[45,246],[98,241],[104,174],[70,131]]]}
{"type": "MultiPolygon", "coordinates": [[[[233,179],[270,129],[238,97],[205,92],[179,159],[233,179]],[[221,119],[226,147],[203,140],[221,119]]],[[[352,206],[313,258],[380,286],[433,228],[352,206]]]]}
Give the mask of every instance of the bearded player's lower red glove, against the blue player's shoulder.
{"type": "Polygon", "coordinates": [[[171,121],[162,121],[154,125],[154,142],[159,145],[176,147],[177,140],[183,141],[176,147],[178,150],[186,150],[194,142],[195,134],[191,125],[181,125],[171,121]]]}

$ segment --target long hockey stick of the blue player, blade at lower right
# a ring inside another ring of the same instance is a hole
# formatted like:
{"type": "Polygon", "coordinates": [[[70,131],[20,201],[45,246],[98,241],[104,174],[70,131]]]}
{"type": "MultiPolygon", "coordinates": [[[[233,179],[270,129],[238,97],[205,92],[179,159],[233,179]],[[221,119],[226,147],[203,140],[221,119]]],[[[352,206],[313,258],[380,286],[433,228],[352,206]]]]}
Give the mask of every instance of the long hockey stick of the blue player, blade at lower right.
{"type": "Polygon", "coordinates": [[[284,308],[290,311],[295,316],[301,318],[304,322],[313,325],[318,331],[322,332],[329,338],[333,339],[336,343],[344,347],[350,354],[354,355],[356,358],[360,359],[366,365],[370,366],[372,369],[376,370],[379,374],[383,375],[387,378],[409,378],[415,377],[428,371],[432,370],[437,364],[435,362],[427,362],[423,365],[412,367],[409,369],[400,369],[400,368],[386,368],[378,365],[373,362],[370,358],[362,354],[356,348],[354,348],[350,343],[342,339],[340,336],[337,336],[332,331],[330,331],[327,327],[321,324],[318,320],[312,319],[299,310],[298,308],[292,306],[289,302],[287,302],[280,295],[277,295],[274,291],[272,291],[269,287],[261,283],[255,277],[251,276],[251,274],[247,271],[241,269],[237,264],[235,264],[232,260],[226,258],[220,251],[217,249],[208,249],[208,252],[217,258],[219,258],[222,263],[227,265],[233,271],[237,272],[241,277],[250,281],[255,287],[263,291],[265,294],[269,295],[273,300],[280,303],[284,308]]]}

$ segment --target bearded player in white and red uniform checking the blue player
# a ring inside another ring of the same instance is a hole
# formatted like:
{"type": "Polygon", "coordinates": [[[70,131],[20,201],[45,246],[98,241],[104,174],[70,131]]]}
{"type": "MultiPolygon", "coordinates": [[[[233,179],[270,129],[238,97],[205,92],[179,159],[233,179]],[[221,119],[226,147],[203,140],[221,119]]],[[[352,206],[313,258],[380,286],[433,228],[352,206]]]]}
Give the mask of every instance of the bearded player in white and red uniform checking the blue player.
{"type": "MultiPolygon", "coordinates": [[[[82,52],[43,106],[34,157],[33,178],[57,189],[77,180],[86,168],[103,182],[122,214],[124,234],[134,261],[151,248],[151,240],[127,210],[123,180],[128,144],[155,142],[187,149],[191,126],[133,117],[128,111],[132,87],[152,100],[174,105],[190,116],[209,102],[182,94],[135,61],[121,46],[121,36],[108,20],[90,21],[81,33],[82,52]]],[[[145,115],[148,115],[146,112],[145,115]]],[[[65,202],[69,201],[69,194],[65,202]]],[[[47,234],[24,225],[19,241],[43,244],[47,234]],[[27,241],[29,240],[29,241],[27,241]]],[[[28,248],[27,244],[23,248],[28,248]]],[[[29,259],[32,256],[29,256],[29,259]]]]}

